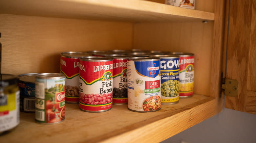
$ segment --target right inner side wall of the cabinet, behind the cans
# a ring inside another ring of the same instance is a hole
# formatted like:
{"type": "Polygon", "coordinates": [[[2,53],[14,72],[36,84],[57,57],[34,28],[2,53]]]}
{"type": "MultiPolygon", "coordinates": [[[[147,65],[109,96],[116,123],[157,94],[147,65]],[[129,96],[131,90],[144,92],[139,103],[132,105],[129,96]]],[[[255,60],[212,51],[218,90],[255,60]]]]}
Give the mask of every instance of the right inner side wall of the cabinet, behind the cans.
{"type": "Polygon", "coordinates": [[[134,47],[195,54],[194,92],[209,96],[213,22],[138,23],[134,47]]]}

